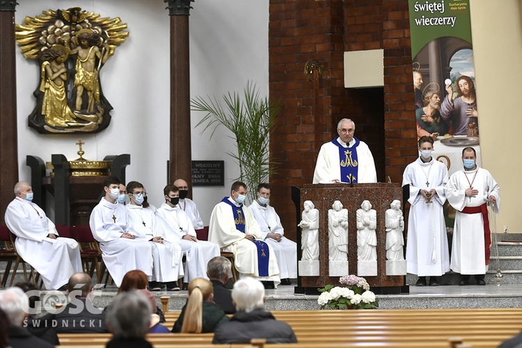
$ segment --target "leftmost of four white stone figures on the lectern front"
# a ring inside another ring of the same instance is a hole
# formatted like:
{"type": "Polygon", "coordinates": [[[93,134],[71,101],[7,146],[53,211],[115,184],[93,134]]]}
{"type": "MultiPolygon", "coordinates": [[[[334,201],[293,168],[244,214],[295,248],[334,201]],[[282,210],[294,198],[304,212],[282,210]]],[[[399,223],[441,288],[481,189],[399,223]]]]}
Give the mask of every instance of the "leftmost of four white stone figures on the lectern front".
{"type": "Polygon", "coordinates": [[[311,200],[305,200],[301,215],[301,260],[319,260],[319,210],[311,200]]]}

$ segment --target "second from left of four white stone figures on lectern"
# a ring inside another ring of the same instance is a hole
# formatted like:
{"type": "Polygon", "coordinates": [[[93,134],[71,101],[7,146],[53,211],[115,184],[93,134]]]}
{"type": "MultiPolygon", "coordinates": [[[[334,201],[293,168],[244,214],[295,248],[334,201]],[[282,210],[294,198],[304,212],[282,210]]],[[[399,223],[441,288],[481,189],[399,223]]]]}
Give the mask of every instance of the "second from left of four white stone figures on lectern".
{"type": "Polygon", "coordinates": [[[329,260],[348,260],[348,210],[335,200],[328,211],[329,260]]]}

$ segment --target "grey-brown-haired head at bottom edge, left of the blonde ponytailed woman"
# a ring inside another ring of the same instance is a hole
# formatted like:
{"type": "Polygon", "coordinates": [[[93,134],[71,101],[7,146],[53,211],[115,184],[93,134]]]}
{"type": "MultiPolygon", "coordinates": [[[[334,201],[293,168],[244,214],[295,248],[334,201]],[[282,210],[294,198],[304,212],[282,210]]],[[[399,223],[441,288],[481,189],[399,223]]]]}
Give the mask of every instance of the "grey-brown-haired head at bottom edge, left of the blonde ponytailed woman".
{"type": "Polygon", "coordinates": [[[150,329],[150,301],[136,291],[122,292],[107,310],[106,322],[113,334],[106,348],[152,348],[145,340],[150,329]]]}

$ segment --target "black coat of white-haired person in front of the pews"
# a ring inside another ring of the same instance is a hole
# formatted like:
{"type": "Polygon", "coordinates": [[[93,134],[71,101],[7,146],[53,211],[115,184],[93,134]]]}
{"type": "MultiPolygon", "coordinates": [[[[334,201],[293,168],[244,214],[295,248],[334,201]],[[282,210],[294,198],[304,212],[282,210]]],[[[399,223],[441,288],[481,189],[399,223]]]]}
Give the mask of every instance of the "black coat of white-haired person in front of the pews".
{"type": "Polygon", "coordinates": [[[294,331],[272,313],[260,308],[246,313],[242,310],[221,324],[214,333],[212,344],[250,343],[252,338],[265,338],[267,343],[296,343],[294,331]]]}

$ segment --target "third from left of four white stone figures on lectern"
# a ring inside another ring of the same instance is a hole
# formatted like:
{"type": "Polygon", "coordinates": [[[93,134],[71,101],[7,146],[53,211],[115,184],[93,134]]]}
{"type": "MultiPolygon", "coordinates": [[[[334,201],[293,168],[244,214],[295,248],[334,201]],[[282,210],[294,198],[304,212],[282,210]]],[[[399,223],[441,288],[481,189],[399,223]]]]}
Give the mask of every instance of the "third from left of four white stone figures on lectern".
{"type": "Polygon", "coordinates": [[[357,209],[357,260],[377,261],[377,211],[369,200],[357,209]]]}

